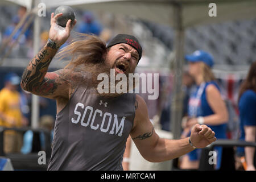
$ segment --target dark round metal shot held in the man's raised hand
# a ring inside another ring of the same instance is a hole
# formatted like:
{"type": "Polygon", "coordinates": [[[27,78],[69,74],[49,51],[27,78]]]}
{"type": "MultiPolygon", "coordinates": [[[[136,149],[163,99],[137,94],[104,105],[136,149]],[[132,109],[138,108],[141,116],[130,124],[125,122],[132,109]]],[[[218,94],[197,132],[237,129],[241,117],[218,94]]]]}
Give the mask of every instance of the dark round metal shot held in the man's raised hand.
{"type": "Polygon", "coordinates": [[[71,24],[74,22],[74,20],[75,20],[75,11],[71,7],[69,7],[69,6],[59,6],[55,10],[54,15],[59,14],[59,13],[63,14],[59,18],[57,18],[57,24],[59,24],[59,26],[66,27],[66,24],[67,24],[69,19],[71,19],[71,24]]]}

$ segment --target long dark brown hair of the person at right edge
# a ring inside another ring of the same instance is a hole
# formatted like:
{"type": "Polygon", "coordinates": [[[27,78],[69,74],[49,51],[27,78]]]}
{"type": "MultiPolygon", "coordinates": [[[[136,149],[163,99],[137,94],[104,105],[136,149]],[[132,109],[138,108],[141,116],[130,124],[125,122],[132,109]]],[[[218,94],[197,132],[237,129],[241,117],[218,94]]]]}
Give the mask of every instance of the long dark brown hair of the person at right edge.
{"type": "Polygon", "coordinates": [[[256,92],[256,61],[254,61],[251,64],[250,70],[249,70],[245,80],[242,82],[242,84],[240,86],[238,101],[240,100],[243,92],[245,92],[246,90],[249,90],[249,89],[256,92]]]}

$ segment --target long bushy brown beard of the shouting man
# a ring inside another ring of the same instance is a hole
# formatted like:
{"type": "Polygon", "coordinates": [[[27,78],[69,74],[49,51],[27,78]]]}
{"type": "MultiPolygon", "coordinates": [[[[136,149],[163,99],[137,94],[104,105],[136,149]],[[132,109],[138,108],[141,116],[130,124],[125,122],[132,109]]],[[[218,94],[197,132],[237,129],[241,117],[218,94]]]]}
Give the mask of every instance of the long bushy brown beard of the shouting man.
{"type": "MultiPolygon", "coordinates": [[[[125,80],[116,80],[113,79],[113,72],[114,72],[114,78],[118,75],[114,70],[117,64],[120,64],[120,60],[116,60],[113,65],[106,64],[107,61],[102,61],[101,63],[89,63],[84,66],[84,68],[79,68],[82,71],[85,71],[86,74],[89,73],[89,81],[85,82],[89,88],[92,88],[94,92],[98,96],[103,96],[103,97],[118,97],[121,96],[124,93],[129,93],[129,91],[133,91],[135,88],[135,79],[129,80],[129,73],[131,72],[129,68],[127,68],[125,73],[118,73],[118,74],[123,74],[122,78],[125,78],[125,80]],[[112,71],[112,73],[111,73],[112,71]],[[129,72],[130,71],[130,72],[129,72]],[[107,90],[107,92],[100,93],[98,85],[103,81],[102,78],[98,78],[98,76],[102,73],[106,77],[108,77],[108,84],[104,84],[104,88],[101,88],[103,90],[107,90]],[[112,76],[112,79],[111,79],[112,76]],[[123,84],[126,84],[126,88],[122,88],[122,85],[120,82],[122,81],[123,84]],[[118,84],[119,83],[119,84],[118,84]],[[118,84],[118,85],[117,85],[118,84]],[[131,86],[132,85],[132,86],[131,86]],[[119,88],[119,92],[117,92],[119,88]],[[117,89],[117,90],[116,90],[117,89]],[[125,92],[120,92],[121,90],[124,90],[125,92]],[[114,92],[113,92],[114,90],[114,92]]],[[[109,61],[107,63],[110,63],[109,61]]]]}

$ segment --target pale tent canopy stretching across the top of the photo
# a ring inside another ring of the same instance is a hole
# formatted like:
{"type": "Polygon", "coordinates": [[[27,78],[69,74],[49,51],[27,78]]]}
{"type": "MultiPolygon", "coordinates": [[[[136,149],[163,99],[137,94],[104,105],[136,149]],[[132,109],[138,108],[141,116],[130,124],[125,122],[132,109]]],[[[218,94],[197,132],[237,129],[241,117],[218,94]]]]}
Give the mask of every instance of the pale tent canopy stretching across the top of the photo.
{"type": "MultiPolygon", "coordinates": [[[[31,0],[5,0],[31,7],[31,0]]],[[[203,23],[224,22],[225,20],[256,17],[255,0],[217,0],[217,16],[210,17],[209,0],[41,0],[47,8],[68,5],[79,9],[101,10],[115,14],[134,15],[152,22],[175,27],[175,7],[182,7],[184,28],[203,23]]]]}

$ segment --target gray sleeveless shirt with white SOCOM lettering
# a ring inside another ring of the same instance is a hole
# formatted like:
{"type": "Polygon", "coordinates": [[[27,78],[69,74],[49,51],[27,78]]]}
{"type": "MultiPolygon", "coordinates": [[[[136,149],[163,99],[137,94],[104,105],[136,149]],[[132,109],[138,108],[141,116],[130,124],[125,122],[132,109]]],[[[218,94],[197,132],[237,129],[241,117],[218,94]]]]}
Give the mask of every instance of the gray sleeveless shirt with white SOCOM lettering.
{"type": "Polygon", "coordinates": [[[122,170],[135,94],[106,98],[79,86],[56,115],[48,170],[122,170]]]}

